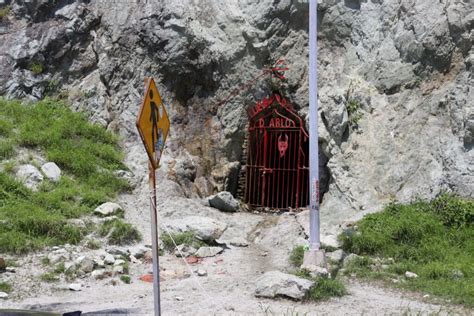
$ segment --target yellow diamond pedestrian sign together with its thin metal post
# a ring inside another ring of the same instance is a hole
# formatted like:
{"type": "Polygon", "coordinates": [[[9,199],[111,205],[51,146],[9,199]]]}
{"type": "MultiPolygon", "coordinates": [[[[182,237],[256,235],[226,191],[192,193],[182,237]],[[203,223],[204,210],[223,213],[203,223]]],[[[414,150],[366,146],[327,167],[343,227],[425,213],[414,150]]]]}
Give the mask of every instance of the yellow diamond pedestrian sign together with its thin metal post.
{"type": "Polygon", "coordinates": [[[155,315],[161,315],[160,262],[156,209],[156,173],[170,128],[170,121],[153,78],[145,79],[146,94],[137,118],[137,129],[148,154],[151,242],[153,247],[153,292],[155,315]]]}

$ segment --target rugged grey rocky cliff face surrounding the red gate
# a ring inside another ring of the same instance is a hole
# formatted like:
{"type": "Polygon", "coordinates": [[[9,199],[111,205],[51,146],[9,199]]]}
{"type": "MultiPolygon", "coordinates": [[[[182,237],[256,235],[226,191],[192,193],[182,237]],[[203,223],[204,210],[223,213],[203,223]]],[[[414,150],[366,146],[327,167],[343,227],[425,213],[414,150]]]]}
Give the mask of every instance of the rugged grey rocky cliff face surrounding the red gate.
{"type": "MultiPolygon", "coordinates": [[[[153,76],[172,131],[162,168],[183,194],[235,185],[247,116],[266,92],[230,91],[283,58],[286,93],[308,106],[304,1],[0,1],[0,95],[67,91],[75,109],[120,132],[145,174],[135,130],[153,76]]],[[[326,224],[392,199],[474,196],[474,4],[320,0],[319,101],[326,224]]]]}

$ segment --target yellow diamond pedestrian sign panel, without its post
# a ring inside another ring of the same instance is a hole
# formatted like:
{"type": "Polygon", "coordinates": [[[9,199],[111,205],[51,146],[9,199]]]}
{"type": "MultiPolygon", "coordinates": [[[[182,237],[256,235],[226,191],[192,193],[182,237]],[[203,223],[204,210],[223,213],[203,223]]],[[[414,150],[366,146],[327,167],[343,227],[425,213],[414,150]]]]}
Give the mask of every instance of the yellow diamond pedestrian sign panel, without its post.
{"type": "Polygon", "coordinates": [[[170,120],[153,78],[148,80],[137,128],[153,168],[158,168],[170,129],[170,120]]]}

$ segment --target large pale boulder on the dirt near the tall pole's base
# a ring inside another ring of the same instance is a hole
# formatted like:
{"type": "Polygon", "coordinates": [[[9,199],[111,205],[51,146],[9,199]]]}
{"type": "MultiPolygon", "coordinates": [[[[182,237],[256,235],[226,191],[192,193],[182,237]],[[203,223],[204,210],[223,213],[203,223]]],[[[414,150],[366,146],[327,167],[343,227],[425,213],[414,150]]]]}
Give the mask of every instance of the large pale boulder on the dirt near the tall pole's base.
{"type": "Polygon", "coordinates": [[[292,274],[270,271],[257,279],[255,296],[268,298],[286,296],[301,300],[314,283],[315,281],[302,279],[292,274]]]}

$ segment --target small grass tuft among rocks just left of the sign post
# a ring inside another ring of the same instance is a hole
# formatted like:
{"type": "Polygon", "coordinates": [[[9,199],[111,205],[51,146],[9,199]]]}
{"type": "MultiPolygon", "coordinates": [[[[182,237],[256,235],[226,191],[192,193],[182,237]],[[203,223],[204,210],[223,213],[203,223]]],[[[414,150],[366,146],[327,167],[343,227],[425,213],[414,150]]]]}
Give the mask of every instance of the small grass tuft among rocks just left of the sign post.
{"type": "Polygon", "coordinates": [[[114,219],[102,224],[99,228],[99,234],[107,236],[110,244],[126,245],[142,239],[140,232],[131,224],[125,223],[120,219],[114,219]]]}

